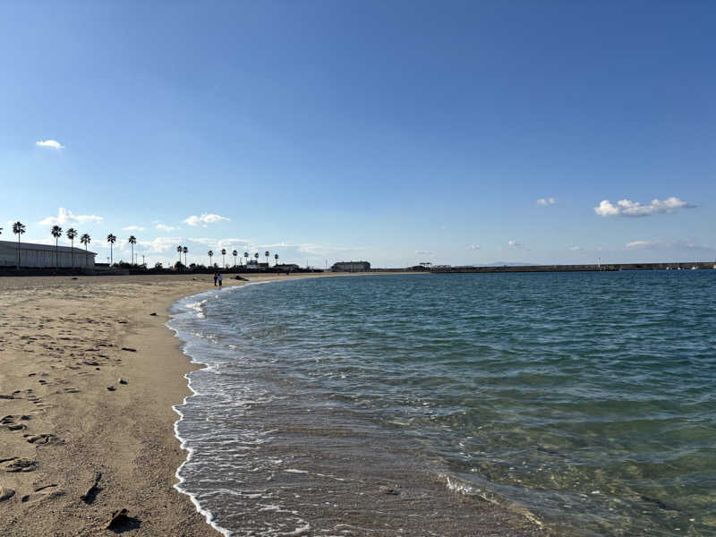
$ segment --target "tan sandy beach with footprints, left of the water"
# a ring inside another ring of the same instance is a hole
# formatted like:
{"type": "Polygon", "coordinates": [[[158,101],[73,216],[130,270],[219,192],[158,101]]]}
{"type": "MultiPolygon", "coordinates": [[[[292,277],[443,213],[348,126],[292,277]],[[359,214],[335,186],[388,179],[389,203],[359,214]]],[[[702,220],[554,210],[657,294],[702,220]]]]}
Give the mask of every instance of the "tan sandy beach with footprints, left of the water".
{"type": "Polygon", "coordinates": [[[115,533],[218,534],[173,488],[186,453],[172,405],[194,366],[165,327],[172,303],[213,287],[209,275],[0,278],[0,535],[111,534],[123,508],[115,533]]]}

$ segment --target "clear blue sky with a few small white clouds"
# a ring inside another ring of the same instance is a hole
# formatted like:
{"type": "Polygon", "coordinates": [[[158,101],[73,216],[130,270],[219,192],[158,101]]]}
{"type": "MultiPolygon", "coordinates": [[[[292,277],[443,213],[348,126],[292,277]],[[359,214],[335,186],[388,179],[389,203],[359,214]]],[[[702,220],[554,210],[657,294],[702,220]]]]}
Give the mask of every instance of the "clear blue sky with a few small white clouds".
{"type": "Polygon", "coordinates": [[[710,2],[0,4],[1,238],[713,260],[714,28],[710,2]]]}

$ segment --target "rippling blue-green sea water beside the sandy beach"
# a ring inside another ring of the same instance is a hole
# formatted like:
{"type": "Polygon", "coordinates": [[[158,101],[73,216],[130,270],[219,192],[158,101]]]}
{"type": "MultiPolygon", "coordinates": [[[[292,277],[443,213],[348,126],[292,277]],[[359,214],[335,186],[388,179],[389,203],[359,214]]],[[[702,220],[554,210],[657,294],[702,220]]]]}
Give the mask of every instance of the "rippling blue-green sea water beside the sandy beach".
{"type": "Polygon", "coordinates": [[[716,535],[716,270],[323,278],[175,313],[209,366],[180,487],[227,534],[341,534],[362,468],[400,466],[564,534],[716,535]]]}

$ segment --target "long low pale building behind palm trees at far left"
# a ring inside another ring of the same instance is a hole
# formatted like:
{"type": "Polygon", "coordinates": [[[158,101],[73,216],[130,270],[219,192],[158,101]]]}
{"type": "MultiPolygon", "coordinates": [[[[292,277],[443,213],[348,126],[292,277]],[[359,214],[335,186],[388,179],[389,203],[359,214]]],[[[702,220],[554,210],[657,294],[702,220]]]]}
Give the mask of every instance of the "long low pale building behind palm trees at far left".
{"type": "Polygon", "coordinates": [[[20,253],[20,266],[27,268],[94,268],[94,251],[69,246],[15,243],[0,241],[0,267],[16,267],[20,253]]]}

